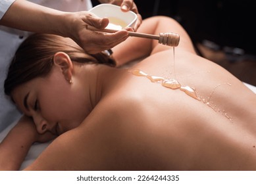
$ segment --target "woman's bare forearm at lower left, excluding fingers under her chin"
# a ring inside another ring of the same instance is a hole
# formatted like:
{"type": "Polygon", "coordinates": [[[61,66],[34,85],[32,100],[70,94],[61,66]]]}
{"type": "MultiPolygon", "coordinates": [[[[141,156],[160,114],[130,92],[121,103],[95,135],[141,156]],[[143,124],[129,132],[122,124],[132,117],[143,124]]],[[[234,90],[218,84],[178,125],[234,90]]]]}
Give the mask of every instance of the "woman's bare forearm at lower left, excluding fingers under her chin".
{"type": "Polygon", "coordinates": [[[34,134],[17,124],[0,143],[0,170],[19,170],[28,150],[34,143],[34,134]]]}

